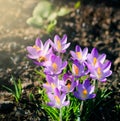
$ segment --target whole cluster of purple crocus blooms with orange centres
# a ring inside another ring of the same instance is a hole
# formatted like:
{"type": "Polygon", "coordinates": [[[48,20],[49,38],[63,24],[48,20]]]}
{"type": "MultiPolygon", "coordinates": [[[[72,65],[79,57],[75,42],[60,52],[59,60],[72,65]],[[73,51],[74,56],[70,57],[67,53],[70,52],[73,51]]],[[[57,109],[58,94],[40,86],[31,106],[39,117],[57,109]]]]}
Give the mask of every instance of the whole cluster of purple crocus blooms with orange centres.
{"type": "Polygon", "coordinates": [[[37,38],[34,46],[27,47],[27,56],[38,66],[44,67],[46,83],[43,87],[50,100],[48,105],[59,109],[70,104],[67,98],[69,93],[80,100],[95,98],[95,86],[90,80],[105,82],[112,74],[111,62],[106,60],[105,54],[99,54],[96,48],[88,53],[87,47],[82,50],[79,45],[76,45],[75,51],[70,51],[72,64],[69,69],[69,61],[61,56],[69,46],[66,35],[62,38],[55,35],[53,41],[48,39],[43,44],[37,38]],[[80,82],[82,76],[86,76],[86,79],[80,82]]]}

